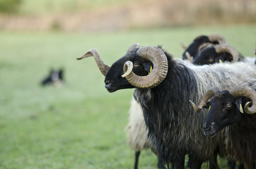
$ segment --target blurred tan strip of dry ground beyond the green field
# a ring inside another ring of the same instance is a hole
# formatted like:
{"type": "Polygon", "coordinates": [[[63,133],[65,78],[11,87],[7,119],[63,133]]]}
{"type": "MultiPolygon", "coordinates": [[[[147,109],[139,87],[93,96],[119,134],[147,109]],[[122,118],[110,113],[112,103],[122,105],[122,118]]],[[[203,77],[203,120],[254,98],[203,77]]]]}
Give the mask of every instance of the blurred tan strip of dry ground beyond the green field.
{"type": "Polygon", "coordinates": [[[0,15],[0,29],[113,31],[256,23],[256,0],[149,0],[42,16],[0,15]]]}

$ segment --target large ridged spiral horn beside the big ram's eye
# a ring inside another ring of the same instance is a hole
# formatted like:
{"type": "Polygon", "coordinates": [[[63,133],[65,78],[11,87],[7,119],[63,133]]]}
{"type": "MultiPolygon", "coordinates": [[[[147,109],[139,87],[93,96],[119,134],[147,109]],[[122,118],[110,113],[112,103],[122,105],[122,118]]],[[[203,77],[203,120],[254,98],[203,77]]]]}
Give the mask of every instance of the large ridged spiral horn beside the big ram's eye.
{"type": "Polygon", "coordinates": [[[132,62],[127,61],[124,65],[124,74],[128,82],[139,88],[152,88],[165,79],[168,71],[168,62],[165,53],[156,46],[145,46],[137,51],[137,54],[153,63],[154,68],[147,76],[138,76],[132,72],[132,62]]]}

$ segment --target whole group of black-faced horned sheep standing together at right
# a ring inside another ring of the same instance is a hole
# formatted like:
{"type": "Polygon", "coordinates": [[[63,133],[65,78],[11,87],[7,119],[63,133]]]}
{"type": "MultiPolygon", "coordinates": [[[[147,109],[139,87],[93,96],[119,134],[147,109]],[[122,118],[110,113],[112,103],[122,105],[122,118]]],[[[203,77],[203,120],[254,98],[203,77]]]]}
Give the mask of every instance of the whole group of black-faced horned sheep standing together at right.
{"type": "Polygon", "coordinates": [[[161,46],[138,43],[111,67],[97,49],[77,60],[94,56],[109,92],[135,88],[126,127],[135,169],[140,151],[148,148],[158,155],[158,168],[184,169],[186,155],[191,169],[204,162],[218,168],[217,155],[255,168],[254,62],[218,34],[182,47],[182,60],[161,46]]]}

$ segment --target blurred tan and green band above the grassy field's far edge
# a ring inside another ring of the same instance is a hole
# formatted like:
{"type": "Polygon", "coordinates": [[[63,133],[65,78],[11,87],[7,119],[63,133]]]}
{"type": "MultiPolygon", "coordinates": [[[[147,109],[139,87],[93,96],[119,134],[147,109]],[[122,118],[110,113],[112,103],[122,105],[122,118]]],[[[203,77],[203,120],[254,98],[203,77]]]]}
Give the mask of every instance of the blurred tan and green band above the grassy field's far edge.
{"type": "Polygon", "coordinates": [[[255,0],[0,0],[0,28],[113,31],[255,23],[255,0]]]}

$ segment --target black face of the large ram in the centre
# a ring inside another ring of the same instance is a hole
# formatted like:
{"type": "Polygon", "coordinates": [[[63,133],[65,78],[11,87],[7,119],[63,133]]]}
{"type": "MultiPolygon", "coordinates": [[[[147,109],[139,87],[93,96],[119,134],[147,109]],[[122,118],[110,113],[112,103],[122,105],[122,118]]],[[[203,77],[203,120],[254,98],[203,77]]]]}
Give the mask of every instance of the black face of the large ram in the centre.
{"type": "Polygon", "coordinates": [[[132,71],[139,76],[146,76],[148,75],[148,72],[150,72],[150,68],[152,67],[153,69],[152,62],[142,59],[137,55],[137,50],[138,49],[134,49],[127,52],[110,67],[105,76],[105,88],[109,92],[114,92],[119,89],[135,88],[126,80],[126,78],[122,77],[124,74],[124,64],[127,61],[133,63],[132,71]]]}

